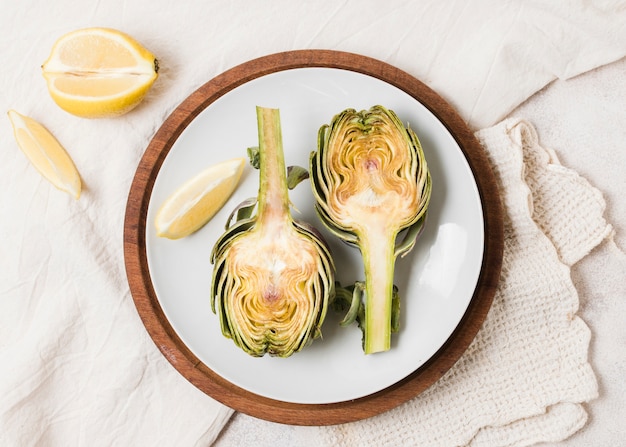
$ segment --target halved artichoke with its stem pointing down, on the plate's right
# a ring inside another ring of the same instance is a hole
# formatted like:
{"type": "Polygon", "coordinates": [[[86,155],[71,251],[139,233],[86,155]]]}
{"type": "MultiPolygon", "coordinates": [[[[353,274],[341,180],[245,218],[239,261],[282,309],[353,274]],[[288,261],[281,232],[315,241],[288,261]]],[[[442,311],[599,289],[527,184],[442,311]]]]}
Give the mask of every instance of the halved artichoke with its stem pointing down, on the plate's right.
{"type": "Polygon", "coordinates": [[[397,323],[395,261],[414,247],[430,201],[421,144],[392,110],[346,109],[320,128],[310,178],[322,222],[363,258],[348,320],[363,330],[366,354],[386,351],[397,323]]]}

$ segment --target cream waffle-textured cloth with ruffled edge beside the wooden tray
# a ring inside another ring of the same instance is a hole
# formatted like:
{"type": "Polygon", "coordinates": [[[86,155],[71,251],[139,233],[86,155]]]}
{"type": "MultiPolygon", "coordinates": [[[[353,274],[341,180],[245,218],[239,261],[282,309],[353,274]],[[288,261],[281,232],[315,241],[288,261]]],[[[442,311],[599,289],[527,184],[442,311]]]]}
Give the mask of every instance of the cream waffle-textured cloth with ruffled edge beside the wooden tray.
{"type": "Polygon", "coordinates": [[[319,428],[320,445],[526,446],[565,439],[587,420],[581,403],[598,391],[570,266],[612,232],[604,200],[529,123],[477,136],[505,209],[501,282],[482,329],[426,392],[367,422],[319,428]]]}

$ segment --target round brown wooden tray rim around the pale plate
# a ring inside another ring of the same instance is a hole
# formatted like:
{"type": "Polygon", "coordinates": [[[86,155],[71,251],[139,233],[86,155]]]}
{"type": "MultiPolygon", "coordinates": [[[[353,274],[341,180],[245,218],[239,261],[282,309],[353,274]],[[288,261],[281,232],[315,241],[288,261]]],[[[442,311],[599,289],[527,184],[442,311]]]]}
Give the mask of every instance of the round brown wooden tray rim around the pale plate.
{"type": "Polygon", "coordinates": [[[154,135],[139,163],[124,222],[125,265],[133,300],[146,330],[168,361],[193,385],[225,405],[258,418],[294,425],[331,425],[368,418],[406,402],[437,381],[467,349],[487,316],[500,277],[502,250],[502,210],[496,181],[482,147],[460,116],[437,93],[402,70],[369,57],[330,50],[289,51],[254,59],[217,76],[185,99],[154,135]],[[146,218],[153,185],[183,130],[200,112],[234,88],[270,73],[303,67],[362,73],[401,89],[425,105],[446,126],[475,174],[485,231],[483,261],[474,295],[441,349],[412,374],[382,391],[328,404],[290,403],[260,396],[235,386],[202,363],[165,317],[146,255],[146,218]]]}

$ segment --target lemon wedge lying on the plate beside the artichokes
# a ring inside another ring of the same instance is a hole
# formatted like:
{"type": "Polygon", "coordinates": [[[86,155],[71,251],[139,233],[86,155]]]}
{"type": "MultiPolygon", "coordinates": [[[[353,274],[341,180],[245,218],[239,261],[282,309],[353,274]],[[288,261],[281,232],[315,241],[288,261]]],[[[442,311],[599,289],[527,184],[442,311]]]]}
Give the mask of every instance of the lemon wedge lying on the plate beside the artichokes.
{"type": "Polygon", "coordinates": [[[233,158],[179,186],[156,214],[157,236],[180,239],[202,228],[235,191],[244,166],[245,158],[233,158]]]}

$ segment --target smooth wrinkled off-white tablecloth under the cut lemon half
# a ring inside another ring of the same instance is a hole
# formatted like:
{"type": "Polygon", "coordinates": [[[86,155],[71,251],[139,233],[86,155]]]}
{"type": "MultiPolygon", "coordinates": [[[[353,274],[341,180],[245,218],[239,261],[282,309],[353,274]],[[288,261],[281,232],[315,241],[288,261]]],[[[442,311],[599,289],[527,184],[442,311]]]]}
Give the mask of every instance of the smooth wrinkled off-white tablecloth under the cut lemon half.
{"type": "MultiPolygon", "coordinates": [[[[591,417],[572,443],[619,445],[626,437],[626,67],[620,61],[568,80],[626,55],[626,4],[379,3],[3,2],[0,105],[48,127],[85,190],[74,202],[52,188],[17,148],[8,120],[0,122],[0,444],[213,442],[230,412],[167,363],[134,309],[123,266],[125,202],[148,141],[189,93],[238,63],[303,48],[396,65],[441,93],[474,130],[513,112],[602,192],[615,243],[601,243],[571,273],[591,329],[599,397],[583,406],[591,417]],[[127,32],[160,60],[154,88],[124,117],[76,118],[47,94],[40,65],[52,44],[89,26],[127,32]]],[[[238,414],[217,444],[303,445],[310,431],[238,414]]]]}

